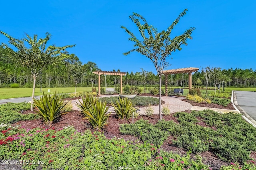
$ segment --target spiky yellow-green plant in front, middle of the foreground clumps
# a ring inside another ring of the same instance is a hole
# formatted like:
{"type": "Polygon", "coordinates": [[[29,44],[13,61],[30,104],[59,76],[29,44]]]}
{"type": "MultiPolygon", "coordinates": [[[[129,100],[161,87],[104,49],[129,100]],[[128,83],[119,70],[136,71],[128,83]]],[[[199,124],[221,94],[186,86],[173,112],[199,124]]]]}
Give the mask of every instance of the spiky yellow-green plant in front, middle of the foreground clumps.
{"type": "Polygon", "coordinates": [[[88,107],[88,110],[84,111],[86,113],[85,119],[96,130],[101,130],[102,127],[106,126],[108,123],[108,117],[110,113],[106,113],[109,107],[106,107],[106,102],[102,103],[97,101],[96,104],[92,104],[91,107],[88,107]]]}

